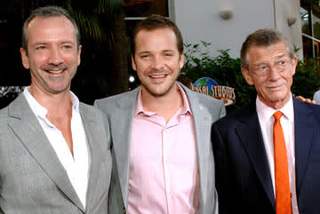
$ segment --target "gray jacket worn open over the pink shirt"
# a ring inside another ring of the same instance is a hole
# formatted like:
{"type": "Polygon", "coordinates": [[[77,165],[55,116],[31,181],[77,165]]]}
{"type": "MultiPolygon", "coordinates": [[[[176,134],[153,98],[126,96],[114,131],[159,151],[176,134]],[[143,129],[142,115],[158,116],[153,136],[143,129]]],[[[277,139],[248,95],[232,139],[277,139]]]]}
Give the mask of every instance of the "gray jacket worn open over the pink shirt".
{"type": "MultiPolygon", "coordinates": [[[[196,146],[200,175],[199,214],[218,213],[218,197],[214,186],[214,161],[211,143],[212,123],[226,114],[218,99],[195,91],[186,91],[196,129],[196,146]]],[[[113,142],[113,172],[109,194],[109,213],[124,213],[128,208],[128,184],[132,119],[140,87],[106,99],[94,105],[107,114],[113,142]]]]}

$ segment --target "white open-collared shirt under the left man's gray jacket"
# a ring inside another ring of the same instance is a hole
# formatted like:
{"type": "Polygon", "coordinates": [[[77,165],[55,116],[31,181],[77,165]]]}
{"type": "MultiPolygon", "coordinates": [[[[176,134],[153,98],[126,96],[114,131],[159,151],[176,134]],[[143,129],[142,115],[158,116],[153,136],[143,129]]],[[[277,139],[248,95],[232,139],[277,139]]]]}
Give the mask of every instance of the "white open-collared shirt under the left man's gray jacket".
{"type": "Polygon", "coordinates": [[[26,87],[23,91],[28,105],[36,115],[54,152],[66,170],[71,185],[74,187],[77,196],[85,208],[91,158],[85,136],[84,124],[79,113],[79,99],[70,91],[70,99],[72,102],[71,132],[74,151],[74,155],[72,155],[66,140],[62,136],[62,132],[46,118],[47,109],[36,101],[28,89],[29,87],[26,87]]]}

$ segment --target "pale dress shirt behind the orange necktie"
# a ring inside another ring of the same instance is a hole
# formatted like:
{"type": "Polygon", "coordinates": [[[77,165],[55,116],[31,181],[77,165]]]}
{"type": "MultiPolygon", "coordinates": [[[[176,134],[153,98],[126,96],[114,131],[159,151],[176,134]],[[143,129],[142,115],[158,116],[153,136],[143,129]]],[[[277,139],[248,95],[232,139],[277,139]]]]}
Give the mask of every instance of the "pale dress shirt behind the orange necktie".
{"type": "Polygon", "coordinates": [[[281,117],[280,123],[284,131],[285,147],[288,157],[288,170],[290,179],[290,191],[292,193],[292,214],[299,214],[297,194],[296,194],[296,180],[295,180],[295,155],[294,155],[294,112],[292,96],[289,101],[280,109],[268,107],[257,97],[256,99],[257,113],[260,122],[263,142],[268,157],[268,165],[272,178],[272,185],[276,197],[275,186],[275,158],[274,158],[274,142],[273,142],[273,125],[274,114],[276,111],[281,111],[284,115],[281,117]]]}

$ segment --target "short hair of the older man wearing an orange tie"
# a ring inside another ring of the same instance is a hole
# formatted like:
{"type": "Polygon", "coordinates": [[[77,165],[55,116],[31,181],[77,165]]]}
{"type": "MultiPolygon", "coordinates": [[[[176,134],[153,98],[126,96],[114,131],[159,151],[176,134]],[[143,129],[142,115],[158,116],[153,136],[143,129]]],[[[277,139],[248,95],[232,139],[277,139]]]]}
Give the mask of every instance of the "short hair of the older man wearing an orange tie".
{"type": "Polygon", "coordinates": [[[276,29],[259,29],[247,36],[242,47],[241,47],[241,67],[249,69],[247,61],[247,52],[252,46],[265,46],[268,47],[271,44],[277,44],[283,42],[289,56],[294,58],[295,54],[292,49],[292,45],[288,42],[288,39],[276,29]]]}

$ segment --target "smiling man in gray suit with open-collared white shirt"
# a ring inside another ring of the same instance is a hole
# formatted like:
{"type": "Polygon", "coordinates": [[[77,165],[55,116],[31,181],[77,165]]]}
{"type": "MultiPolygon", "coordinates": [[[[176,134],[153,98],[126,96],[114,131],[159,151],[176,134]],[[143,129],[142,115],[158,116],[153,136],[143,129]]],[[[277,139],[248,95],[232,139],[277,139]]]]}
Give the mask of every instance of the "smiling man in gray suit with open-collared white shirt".
{"type": "Polygon", "coordinates": [[[31,85],[0,111],[0,213],[107,213],[108,120],[70,91],[78,34],[59,7],[38,8],[24,23],[31,85]]]}

